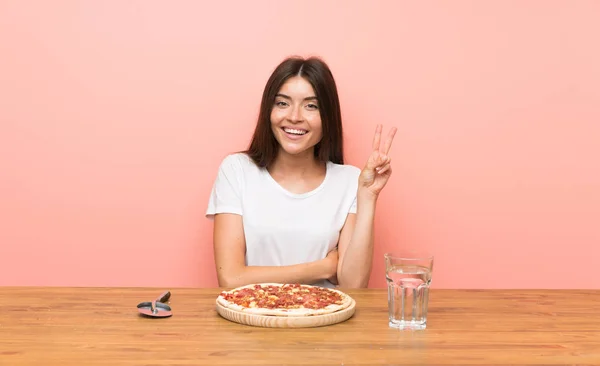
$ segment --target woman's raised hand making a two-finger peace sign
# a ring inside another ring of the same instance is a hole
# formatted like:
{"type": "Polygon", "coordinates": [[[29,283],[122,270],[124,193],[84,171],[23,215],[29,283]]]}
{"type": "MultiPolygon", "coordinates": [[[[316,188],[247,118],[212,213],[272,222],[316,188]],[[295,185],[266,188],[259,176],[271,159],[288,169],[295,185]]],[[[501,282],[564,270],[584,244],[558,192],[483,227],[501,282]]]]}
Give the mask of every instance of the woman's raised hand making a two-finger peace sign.
{"type": "Polygon", "coordinates": [[[368,192],[377,198],[392,175],[391,158],[389,151],[394,141],[397,129],[393,127],[387,135],[385,142],[381,143],[382,125],[377,125],[373,137],[373,151],[358,178],[358,190],[368,192]]]}

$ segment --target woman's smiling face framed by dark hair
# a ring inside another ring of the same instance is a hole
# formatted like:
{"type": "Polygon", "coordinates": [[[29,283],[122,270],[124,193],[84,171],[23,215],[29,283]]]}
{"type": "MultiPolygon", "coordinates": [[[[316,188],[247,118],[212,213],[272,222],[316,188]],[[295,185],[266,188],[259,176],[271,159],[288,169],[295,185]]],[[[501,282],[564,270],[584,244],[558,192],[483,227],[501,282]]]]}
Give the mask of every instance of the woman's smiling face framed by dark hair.
{"type": "Polygon", "coordinates": [[[271,130],[282,147],[280,153],[312,156],[323,130],[315,92],[304,78],[291,77],[279,89],[271,110],[271,130]]]}

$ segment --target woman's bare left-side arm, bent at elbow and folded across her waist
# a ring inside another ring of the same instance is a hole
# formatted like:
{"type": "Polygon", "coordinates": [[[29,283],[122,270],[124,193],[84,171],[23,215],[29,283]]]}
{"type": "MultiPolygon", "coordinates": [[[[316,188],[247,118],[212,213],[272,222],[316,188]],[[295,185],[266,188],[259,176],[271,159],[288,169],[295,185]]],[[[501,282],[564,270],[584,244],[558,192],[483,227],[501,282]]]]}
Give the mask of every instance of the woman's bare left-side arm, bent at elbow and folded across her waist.
{"type": "Polygon", "coordinates": [[[313,283],[335,275],[338,255],[291,266],[246,266],[246,241],[242,217],[215,215],[213,244],[217,278],[221,287],[239,287],[252,283],[313,283]]]}

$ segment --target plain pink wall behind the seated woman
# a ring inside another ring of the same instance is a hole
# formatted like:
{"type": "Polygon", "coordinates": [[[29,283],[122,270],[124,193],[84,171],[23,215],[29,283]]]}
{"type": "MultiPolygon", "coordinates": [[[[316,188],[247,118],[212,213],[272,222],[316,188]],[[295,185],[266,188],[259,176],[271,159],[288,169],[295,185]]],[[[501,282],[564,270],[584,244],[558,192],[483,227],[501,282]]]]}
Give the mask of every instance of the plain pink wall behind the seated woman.
{"type": "Polygon", "coordinates": [[[289,54],[350,163],[398,127],[383,253],[439,288],[600,288],[600,3],[2,1],[0,285],[214,286],[204,218],[289,54]]]}

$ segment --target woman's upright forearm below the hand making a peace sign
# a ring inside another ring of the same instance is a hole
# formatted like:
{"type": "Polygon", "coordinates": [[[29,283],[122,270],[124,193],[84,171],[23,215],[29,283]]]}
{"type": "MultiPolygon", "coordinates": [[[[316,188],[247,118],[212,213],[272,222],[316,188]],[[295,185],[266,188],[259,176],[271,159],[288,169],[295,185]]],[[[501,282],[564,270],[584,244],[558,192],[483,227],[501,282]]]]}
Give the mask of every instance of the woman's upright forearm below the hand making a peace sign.
{"type": "Polygon", "coordinates": [[[356,224],[348,248],[339,264],[340,287],[367,287],[373,264],[373,226],[377,199],[368,194],[357,197],[356,224]]]}

